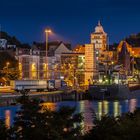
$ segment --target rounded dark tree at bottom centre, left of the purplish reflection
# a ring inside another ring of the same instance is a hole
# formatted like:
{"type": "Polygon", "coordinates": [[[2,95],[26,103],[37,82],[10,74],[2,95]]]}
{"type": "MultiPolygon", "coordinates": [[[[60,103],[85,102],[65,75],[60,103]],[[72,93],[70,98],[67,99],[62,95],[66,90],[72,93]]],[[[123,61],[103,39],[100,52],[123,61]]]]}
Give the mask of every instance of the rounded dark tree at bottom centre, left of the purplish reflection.
{"type": "MultiPolygon", "coordinates": [[[[50,127],[53,126],[54,132],[59,136],[57,139],[74,140],[81,136],[82,127],[80,123],[83,117],[79,113],[74,114],[74,112],[75,108],[68,106],[53,112],[53,117],[49,122],[50,127]]],[[[52,133],[51,139],[54,139],[55,133],[52,133]]]]}

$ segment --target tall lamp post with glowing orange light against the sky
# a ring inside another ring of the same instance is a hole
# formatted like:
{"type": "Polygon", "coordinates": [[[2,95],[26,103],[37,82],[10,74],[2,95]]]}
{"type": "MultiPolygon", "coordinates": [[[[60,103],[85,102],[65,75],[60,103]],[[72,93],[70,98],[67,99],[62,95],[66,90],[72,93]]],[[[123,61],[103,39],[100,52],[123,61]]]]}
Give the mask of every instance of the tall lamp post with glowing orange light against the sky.
{"type": "Polygon", "coordinates": [[[49,33],[51,33],[51,29],[46,29],[46,79],[48,79],[48,40],[49,40],[49,33]]]}

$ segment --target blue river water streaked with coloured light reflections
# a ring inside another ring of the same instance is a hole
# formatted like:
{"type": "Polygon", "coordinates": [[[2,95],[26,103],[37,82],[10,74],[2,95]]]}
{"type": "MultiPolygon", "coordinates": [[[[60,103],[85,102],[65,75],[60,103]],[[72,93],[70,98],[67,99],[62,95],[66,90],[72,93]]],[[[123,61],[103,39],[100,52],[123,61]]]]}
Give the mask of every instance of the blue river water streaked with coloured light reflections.
{"type": "MultiPolygon", "coordinates": [[[[61,106],[76,107],[76,112],[81,112],[84,117],[82,123],[85,130],[88,130],[93,125],[93,116],[101,119],[103,115],[112,115],[114,117],[125,112],[133,112],[136,107],[140,107],[139,99],[131,99],[125,101],[65,101],[58,103],[44,103],[44,106],[57,110],[61,106]]],[[[7,127],[13,124],[16,111],[19,106],[0,107],[0,118],[5,120],[7,127]]]]}

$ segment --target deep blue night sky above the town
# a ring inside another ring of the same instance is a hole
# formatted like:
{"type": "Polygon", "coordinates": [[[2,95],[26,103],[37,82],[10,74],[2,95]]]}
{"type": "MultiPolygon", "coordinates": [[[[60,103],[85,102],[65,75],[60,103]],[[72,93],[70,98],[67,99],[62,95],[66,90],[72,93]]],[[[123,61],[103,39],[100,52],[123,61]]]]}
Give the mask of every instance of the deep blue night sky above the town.
{"type": "Polygon", "coordinates": [[[55,32],[50,40],[89,43],[98,20],[110,42],[119,42],[129,34],[140,32],[140,1],[0,0],[2,30],[24,43],[45,40],[46,27],[55,32]]]}

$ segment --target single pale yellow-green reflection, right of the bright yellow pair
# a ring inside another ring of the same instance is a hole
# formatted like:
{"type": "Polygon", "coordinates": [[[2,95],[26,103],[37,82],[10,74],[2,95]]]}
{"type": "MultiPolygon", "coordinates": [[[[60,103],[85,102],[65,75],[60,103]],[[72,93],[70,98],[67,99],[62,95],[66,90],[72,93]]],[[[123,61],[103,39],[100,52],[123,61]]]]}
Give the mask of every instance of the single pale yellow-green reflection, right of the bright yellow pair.
{"type": "Polygon", "coordinates": [[[114,117],[121,115],[121,106],[118,101],[113,102],[114,117]]]}

